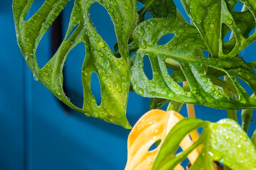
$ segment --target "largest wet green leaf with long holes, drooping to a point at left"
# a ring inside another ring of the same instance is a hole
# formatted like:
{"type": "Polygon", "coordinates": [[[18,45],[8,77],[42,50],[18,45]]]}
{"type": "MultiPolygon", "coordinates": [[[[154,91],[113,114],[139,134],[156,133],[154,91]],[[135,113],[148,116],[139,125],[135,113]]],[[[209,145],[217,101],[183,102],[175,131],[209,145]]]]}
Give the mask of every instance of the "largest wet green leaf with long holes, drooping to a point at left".
{"type": "Polygon", "coordinates": [[[87,116],[97,117],[108,122],[130,128],[126,119],[126,104],[130,85],[130,57],[128,37],[135,23],[137,4],[135,0],[75,0],[70,22],[58,51],[43,68],[36,60],[38,44],[63,10],[69,0],[45,0],[34,15],[25,21],[25,16],[34,0],[13,0],[18,44],[29,68],[58,99],[71,108],[87,116]],[[110,51],[108,44],[101,38],[89,17],[92,3],[98,2],[110,14],[117,41],[120,58],[110,51]],[[77,27],[76,27],[77,26],[77,27]],[[72,29],[74,32],[71,33],[72,29]],[[86,55],[81,68],[83,83],[83,108],[78,108],[69,101],[63,91],[63,67],[67,54],[79,43],[85,45],[86,55]],[[90,77],[97,73],[101,85],[101,104],[97,106],[90,91],[90,77]]]}

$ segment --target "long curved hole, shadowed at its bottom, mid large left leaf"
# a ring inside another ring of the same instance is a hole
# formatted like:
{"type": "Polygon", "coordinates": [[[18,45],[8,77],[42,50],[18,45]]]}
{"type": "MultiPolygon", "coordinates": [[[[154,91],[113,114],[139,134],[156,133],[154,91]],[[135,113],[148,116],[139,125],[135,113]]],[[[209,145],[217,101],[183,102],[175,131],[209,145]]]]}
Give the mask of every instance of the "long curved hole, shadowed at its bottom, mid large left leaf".
{"type": "Polygon", "coordinates": [[[85,46],[77,44],[67,55],[63,68],[63,88],[67,97],[75,106],[83,107],[83,85],[81,69],[85,57],[85,46]]]}

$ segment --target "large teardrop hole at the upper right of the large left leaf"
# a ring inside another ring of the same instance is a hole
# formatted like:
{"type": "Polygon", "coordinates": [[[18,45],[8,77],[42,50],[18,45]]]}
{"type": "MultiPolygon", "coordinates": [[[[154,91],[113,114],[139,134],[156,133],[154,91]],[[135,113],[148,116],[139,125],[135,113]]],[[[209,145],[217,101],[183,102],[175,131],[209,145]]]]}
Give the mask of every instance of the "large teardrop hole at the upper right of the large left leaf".
{"type": "MultiPolygon", "coordinates": [[[[97,32],[104,41],[110,46],[114,53],[113,46],[117,42],[115,28],[108,11],[99,3],[93,3],[90,7],[90,18],[97,32]],[[99,13],[101,15],[99,15],[99,13]]],[[[121,22],[121,21],[120,21],[121,22]]]]}

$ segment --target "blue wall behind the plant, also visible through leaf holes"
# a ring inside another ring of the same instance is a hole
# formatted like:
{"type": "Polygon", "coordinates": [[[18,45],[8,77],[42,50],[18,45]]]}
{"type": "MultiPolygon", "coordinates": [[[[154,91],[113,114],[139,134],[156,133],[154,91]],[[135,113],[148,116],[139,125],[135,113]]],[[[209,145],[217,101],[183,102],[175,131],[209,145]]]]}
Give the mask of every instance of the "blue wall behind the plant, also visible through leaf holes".
{"type": "MultiPolygon", "coordinates": [[[[85,117],[72,110],[65,111],[56,97],[33,79],[16,42],[11,3],[11,0],[0,2],[0,170],[124,169],[130,130],[85,117]]],[[[34,2],[31,13],[42,3],[43,0],[34,2]]],[[[73,1],[68,3],[63,13],[64,32],[72,3],[73,1]]],[[[180,6],[179,2],[175,3],[180,6]]],[[[99,34],[110,47],[113,46],[116,42],[113,39],[115,32],[106,10],[93,4],[90,14],[99,34]]],[[[251,45],[243,51],[248,61],[254,58],[254,46],[251,45]]],[[[47,32],[36,52],[39,65],[43,66],[47,62],[49,51],[47,32]]],[[[66,86],[70,90],[71,99],[81,98],[80,75],[84,55],[84,47],[79,44],[67,57],[66,86]]],[[[95,83],[92,91],[99,99],[97,77],[92,81],[95,83]]],[[[131,125],[148,111],[149,101],[150,99],[140,97],[134,92],[129,93],[126,114],[131,125]]],[[[225,110],[198,105],[195,110],[197,117],[204,120],[218,121],[226,117],[225,110]]],[[[186,115],[184,107],[181,113],[186,115]]],[[[255,127],[253,121],[249,135],[252,135],[255,127]]]]}

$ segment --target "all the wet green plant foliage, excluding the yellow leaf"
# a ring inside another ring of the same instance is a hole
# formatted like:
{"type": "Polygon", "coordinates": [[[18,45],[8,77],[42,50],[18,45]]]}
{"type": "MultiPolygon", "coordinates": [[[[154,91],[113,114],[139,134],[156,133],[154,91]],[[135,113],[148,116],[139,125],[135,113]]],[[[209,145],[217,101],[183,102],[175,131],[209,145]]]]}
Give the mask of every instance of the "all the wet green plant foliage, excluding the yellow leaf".
{"type": "MultiPolygon", "coordinates": [[[[252,109],[256,108],[256,74],[253,71],[256,62],[247,63],[238,54],[256,40],[256,2],[253,0],[244,0],[242,11],[234,10],[238,0],[181,0],[191,24],[183,19],[172,0],[139,0],[144,5],[141,9],[137,9],[137,0],[74,0],[65,38],[58,51],[42,68],[38,66],[36,58],[38,44],[69,1],[45,0],[42,7],[28,18],[27,13],[33,2],[13,0],[18,44],[34,77],[67,106],[87,116],[131,128],[126,119],[126,105],[128,92],[133,90],[138,95],[151,97],[150,109],[161,108],[168,102],[168,110],[175,111],[179,111],[183,103],[201,104],[227,109],[229,117],[233,119],[236,119],[236,111],[232,110],[243,109],[242,126],[245,131],[248,130],[252,109]],[[93,3],[105,7],[112,18],[117,37],[115,53],[92,24],[89,9],[93,3]],[[145,20],[146,13],[150,13],[153,18],[145,20]],[[230,38],[226,40],[230,32],[230,38]],[[173,35],[173,38],[166,44],[159,43],[168,34],[173,35]],[[80,43],[84,44],[86,51],[81,68],[84,97],[82,108],[75,106],[63,90],[66,57],[80,43]],[[202,51],[209,52],[209,55],[202,51]],[[131,55],[132,52],[135,54],[131,55]],[[144,57],[150,60],[152,78],[144,73],[144,57]],[[92,73],[97,73],[101,85],[99,105],[91,92],[92,73]],[[187,84],[182,86],[182,82],[187,84]],[[245,90],[244,83],[249,85],[252,94],[245,90]]],[[[234,165],[228,163],[232,160],[232,154],[223,155],[227,159],[219,156],[220,152],[226,151],[225,142],[233,142],[231,139],[226,140],[220,133],[220,129],[226,127],[230,130],[225,136],[233,139],[236,136],[244,137],[240,141],[248,141],[248,146],[238,145],[250,150],[251,158],[255,157],[253,144],[256,143],[256,135],[253,135],[251,143],[235,121],[223,119],[210,123],[189,118],[179,121],[173,127],[182,128],[181,132],[171,130],[166,140],[162,141],[162,148],[165,149],[159,151],[153,169],[174,168],[183,160],[181,156],[165,158],[166,154],[175,153],[186,134],[200,127],[204,129],[200,138],[181,154],[186,157],[191,150],[198,149],[198,145],[203,146],[191,169],[199,168],[198,160],[207,160],[201,165],[202,169],[214,169],[210,166],[212,161],[221,161],[232,169],[243,169],[239,160],[234,165]],[[173,136],[180,141],[171,143],[173,136]],[[223,140],[218,141],[219,145],[215,148],[218,152],[212,152],[212,141],[216,136],[223,140]],[[210,152],[211,157],[203,157],[210,152]]],[[[232,152],[242,155],[241,159],[248,155],[239,149],[232,152]]],[[[255,160],[252,158],[248,161],[250,165],[244,167],[254,168],[255,160]]]]}

